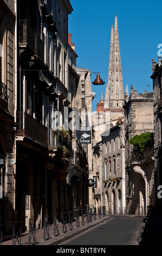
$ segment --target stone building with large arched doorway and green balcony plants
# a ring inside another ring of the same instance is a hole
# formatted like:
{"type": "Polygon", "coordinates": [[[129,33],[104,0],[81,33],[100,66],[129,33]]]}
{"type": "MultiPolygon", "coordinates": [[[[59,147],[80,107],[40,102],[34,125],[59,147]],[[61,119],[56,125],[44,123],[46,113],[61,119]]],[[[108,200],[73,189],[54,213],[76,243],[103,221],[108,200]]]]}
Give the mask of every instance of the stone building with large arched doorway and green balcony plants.
{"type": "MultiPolygon", "coordinates": [[[[146,214],[147,206],[154,206],[154,154],[153,141],[141,151],[129,140],[142,133],[153,133],[153,93],[137,93],[131,85],[125,99],[125,153],[126,202],[132,214],[146,214]]],[[[153,138],[153,137],[152,137],[153,138]]]]}

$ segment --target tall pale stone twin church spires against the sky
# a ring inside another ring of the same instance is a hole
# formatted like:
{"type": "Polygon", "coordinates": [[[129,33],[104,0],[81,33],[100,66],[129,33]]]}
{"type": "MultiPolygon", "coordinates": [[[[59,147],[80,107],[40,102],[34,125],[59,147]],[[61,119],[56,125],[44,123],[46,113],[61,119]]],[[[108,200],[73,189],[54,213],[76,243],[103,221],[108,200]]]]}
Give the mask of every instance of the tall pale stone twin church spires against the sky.
{"type": "Polygon", "coordinates": [[[118,19],[115,15],[114,31],[111,32],[108,82],[105,91],[104,109],[122,109],[124,89],[122,84],[121,56],[119,46],[118,19]]]}

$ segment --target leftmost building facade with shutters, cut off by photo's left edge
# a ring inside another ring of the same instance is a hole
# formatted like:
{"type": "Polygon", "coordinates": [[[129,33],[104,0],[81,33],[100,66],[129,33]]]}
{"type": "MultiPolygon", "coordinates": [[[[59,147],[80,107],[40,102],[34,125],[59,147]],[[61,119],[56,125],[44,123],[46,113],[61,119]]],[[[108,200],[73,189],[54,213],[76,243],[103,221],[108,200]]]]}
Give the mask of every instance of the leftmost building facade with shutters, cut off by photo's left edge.
{"type": "Polygon", "coordinates": [[[8,234],[15,216],[16,1],[0,1],[0,223],[8,234]]]}

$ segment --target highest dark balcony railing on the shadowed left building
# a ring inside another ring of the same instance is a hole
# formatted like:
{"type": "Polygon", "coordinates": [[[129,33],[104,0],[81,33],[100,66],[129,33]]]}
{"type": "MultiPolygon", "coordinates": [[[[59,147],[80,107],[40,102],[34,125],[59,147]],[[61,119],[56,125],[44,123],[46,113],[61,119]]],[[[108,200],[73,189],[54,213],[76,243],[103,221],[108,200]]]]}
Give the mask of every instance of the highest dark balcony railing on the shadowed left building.
{"type": "Polygon", "coordinates": [[[27,20],[19,20],[19,43],[29,45],[35,51],[35,32],[27,20]]]}

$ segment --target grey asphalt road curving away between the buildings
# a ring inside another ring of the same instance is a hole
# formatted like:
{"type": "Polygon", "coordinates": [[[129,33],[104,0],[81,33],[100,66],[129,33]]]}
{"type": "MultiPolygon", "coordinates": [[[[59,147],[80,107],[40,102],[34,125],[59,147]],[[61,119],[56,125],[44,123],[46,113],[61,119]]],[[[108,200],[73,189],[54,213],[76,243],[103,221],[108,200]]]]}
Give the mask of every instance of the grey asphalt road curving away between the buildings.
{"type": "Polygon", "coordinates": [[[144,218],[114,216],[61,245],[139,245],[144,218]]]}

